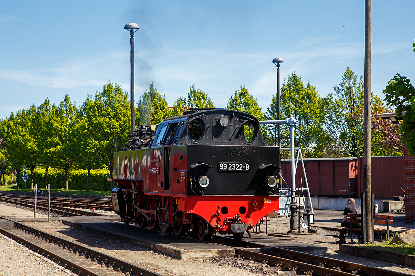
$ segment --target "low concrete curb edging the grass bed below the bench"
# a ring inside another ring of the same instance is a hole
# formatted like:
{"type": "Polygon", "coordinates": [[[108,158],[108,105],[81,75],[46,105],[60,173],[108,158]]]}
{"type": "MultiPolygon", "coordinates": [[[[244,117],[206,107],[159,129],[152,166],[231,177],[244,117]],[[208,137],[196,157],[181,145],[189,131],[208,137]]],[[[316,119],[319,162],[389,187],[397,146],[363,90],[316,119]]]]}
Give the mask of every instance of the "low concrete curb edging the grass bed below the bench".
{"type": "Polygon", "coordinates": [[[371,259],[375,261],[385,261],[392,264],[415,267],[415,256],[391,252],[387,250],[372,249],[354,245],[339,245],[339,251],[355,257],[371,259]]]}

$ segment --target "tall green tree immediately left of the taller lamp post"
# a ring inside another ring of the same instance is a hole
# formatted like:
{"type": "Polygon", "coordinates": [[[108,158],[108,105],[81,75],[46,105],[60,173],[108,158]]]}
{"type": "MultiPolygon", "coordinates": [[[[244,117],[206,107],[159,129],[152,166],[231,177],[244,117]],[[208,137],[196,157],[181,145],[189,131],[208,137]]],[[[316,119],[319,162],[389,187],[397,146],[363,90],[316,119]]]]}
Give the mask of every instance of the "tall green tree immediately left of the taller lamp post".
{"type": "MultiPolygon", "coordinates": [[[[87,150],[95,154],[100,167],[110,170],[112,179],[115,143],[127,143],[130,131],[130,105],[128,93],[120,85],[108,82],[95,99],[88,95],[82,106],[89,133],[87,150]]],[[[110,182],[112,189],[112,182],[110,182]]]]}

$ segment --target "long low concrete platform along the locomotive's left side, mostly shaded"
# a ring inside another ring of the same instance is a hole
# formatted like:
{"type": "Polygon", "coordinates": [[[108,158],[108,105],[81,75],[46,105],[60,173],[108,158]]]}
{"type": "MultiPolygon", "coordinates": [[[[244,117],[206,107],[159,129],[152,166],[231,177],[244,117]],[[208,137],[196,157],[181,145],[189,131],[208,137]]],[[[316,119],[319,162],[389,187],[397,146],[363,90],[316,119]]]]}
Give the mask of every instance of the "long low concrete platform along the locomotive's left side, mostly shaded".
{"type": "Polygon", "coordinates": [[[235,249],[226,245],[203,242],[188,237],[125,225],[91,217],[64,218],[63,224],[88,230],[112,239],[154,249],[179,259],[233,256],[235,249]]]}

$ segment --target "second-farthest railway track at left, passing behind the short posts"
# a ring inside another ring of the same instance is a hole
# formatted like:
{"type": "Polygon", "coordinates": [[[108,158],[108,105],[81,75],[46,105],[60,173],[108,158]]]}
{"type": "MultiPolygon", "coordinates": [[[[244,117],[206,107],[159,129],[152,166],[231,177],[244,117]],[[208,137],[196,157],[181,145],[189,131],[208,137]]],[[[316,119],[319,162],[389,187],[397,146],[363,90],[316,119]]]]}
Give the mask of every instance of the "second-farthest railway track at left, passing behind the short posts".
{"type": "MultiPolygon", "coordinates": [[[[18,200],[18,199],[17,200],[16,199],[7,199],[3,196],[0,196],[0,201],[15,204],[15,205],[18,205],[18,206],[34,208],[34,202],[30,202],[30,201],[24,201],[23,202],[23,201],[18,200]]],[[[48,211],[48,204],[47,203],[42,203],[42,202],[37,202],[36,208],[37,208],[37,210],[47,212],[48,211]]],[[[72,208],[66,208],[66,207],[55,206],[55,205],[50,206],[50,212],[58,214],[58,215],[63,215],[63,216],[101,215],[99,213],[93,213],[93,212],[88,212],[88,211],[83,211],[83,210],[76,210],[76,209],[72,209],[72,208]]]]}

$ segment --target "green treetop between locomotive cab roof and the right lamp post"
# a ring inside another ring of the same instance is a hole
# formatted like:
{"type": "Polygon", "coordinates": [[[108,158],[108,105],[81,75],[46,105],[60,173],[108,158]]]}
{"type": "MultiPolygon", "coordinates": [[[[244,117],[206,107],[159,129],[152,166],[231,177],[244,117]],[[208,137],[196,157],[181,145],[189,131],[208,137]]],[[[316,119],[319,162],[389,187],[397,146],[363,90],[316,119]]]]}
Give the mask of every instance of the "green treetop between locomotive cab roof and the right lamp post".
{"type": "Polygon", "coordinates": [[[258,99],[249,94],[245,85],[240,90],[236,90],[234,95],[231,95],[226,105],[226,109],[242,111],[251,114],[259,121],[264,120],[265,116],[262,113],[262,108],[258,104],[258,99]]]}

